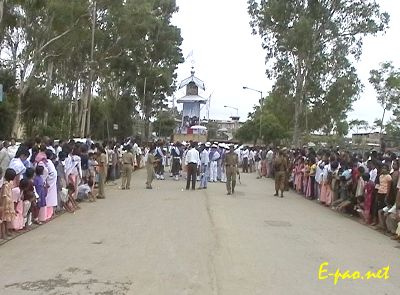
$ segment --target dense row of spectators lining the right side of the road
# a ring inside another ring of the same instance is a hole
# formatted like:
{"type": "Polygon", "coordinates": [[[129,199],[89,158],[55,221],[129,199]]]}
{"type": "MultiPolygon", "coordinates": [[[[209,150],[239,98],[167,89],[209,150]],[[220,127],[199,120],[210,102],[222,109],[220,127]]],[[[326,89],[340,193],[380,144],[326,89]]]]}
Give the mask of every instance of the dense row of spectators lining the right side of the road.
{"type": "Polygon", "coordinates": [[[257,154],[261,159],[259,177],[275,176],[275,196],[278,190],[292,188],[309,200],[356,216],[363,224],[400,241],[400,178],[396,154],[350,153],[339,148],[259,149],[257,154]]]}

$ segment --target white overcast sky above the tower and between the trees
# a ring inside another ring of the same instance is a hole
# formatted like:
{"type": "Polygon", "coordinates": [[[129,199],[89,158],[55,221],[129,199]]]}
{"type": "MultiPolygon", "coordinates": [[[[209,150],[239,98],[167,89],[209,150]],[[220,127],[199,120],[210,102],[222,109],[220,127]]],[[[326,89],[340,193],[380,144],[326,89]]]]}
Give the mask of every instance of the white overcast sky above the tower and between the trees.
{"type": "MultiPolygon", "coordinates": [[[[382,108],[376,102],[374,89],[368,82],[369,71],[380,62],[393,61],[400,67],[400,1],[378,0],[390,13],[390,28],[386,34],[366,38],[363,56],[357,64],[364,92],[349,113],[350,119],[373,122],[380,118],[382,108]]],[[[193,50],[196,76],[206,85],[202,96],[211,95],[210,119],[229,119],[239,109],[241,121],[258,103],[260,94],[243,90],[243,86],[267,93],[272,81],[265,75],[265,52],[259,36],[251,34],[247,0],[177,0],[179,12],[173,23],[181,28],[184,57],[193,50]]],[[[178,68],[179,82],[190,75],[192,63],[187,60],[178,68]]],[[[184,95],[177,92],[177,98],[184,95]]],[[[201,117],[207,117],[205,107],[201,117]]]]}

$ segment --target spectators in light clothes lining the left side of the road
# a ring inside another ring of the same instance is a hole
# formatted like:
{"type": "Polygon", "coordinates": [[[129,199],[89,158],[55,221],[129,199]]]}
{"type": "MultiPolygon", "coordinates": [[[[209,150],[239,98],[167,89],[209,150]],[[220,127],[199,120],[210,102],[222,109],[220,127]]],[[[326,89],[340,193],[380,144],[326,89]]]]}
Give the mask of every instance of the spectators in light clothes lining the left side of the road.
{"type": "Polygon", "coordinates": [[[121,172],[125,188],[129,188],[127,174],[141,165],[141,149],[129,138],[102,144],[91,140],[55,144],[47,137],[22,144],[15,139],[2,142],[0,239],[29,229],[32,223],[47,222],[57,212],[73,213],[80,209],[80,201],[105,198],[105,183],[115,184],[121,172]],[[123,169],[126,153],[132,155],[132,169],[123,169]]]}

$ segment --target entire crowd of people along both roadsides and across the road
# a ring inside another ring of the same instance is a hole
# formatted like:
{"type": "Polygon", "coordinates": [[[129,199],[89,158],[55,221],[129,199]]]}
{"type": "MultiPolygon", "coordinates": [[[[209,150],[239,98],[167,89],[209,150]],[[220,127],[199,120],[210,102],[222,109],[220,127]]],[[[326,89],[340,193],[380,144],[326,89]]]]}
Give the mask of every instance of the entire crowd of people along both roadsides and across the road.
{"type": "MultiPolygon", "coordinates": [[[[154,179],[186,179],[186,189],[226,183],[235,192],[239,167],[258,179],[275,178],[275,196],[293,189],[309,200],[361,221],[400,240],[399,159],[394,153],[349,153],[337,149],[288,150],[218,142],[157,141],[141,148],[123,142],[94,143],[36,139],[0,144],[0,238],[53,218],[73,213],[79,202],[105,198],[106,182],[130,189],[132,172],[146,166],[146,188],[154,179]],[[96,188],[96,189],[95,189],[96,188]]],[[[240,177],[240,176],[239,176],[240,177]]]]}

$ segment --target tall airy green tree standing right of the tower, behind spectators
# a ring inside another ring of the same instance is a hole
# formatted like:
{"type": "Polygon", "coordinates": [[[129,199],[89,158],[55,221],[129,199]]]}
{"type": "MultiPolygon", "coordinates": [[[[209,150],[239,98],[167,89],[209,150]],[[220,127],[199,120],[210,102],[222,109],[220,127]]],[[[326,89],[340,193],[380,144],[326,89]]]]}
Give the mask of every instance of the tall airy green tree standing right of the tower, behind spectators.
{"type": "Polygon", "coordinates": [[[360,57],[363,37],[385,30],[389,15],[372,0],[248,4],[253,33],[261,36],[267,53],[267,75],[293,99],[293,144],[300,144],[304,109],[321,112],[328,122],[325,129],[333,130],[360,92],[350,57],[360,57]]]}

